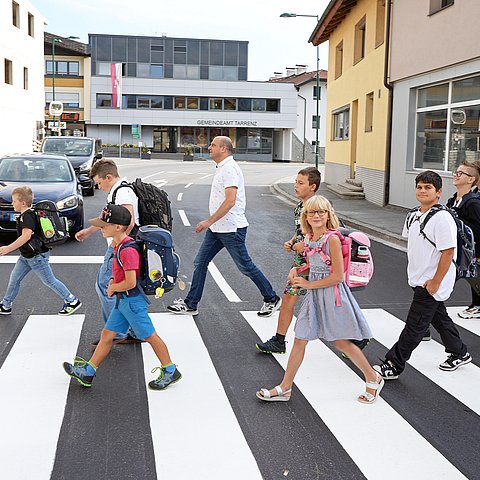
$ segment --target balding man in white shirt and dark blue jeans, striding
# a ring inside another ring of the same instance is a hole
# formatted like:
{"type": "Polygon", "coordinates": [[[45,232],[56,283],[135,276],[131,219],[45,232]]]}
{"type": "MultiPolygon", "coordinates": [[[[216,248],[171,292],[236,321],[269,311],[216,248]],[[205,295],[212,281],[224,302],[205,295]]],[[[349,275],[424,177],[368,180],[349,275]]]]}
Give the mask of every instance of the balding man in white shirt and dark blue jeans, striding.
{"type": "Polygon", "coordinates": [[[209,151],[217,165],[210,190],[210,217],[195,227],[197,233],[205,231],[205,237],[194,260],[192,286],[185,300],[176,300],[167,309],[184,315],[198,314],[197,305],[202,298],[208,264],[226,248],[240,272],[255,283],[263,296],[264,303],[258,315],[269,317],[280,308],[282,300],[253,263],[245,245],[248,227],[245,184],[242,170],[232,156],[232,141],[228,137],[215,137],[209,151]]]}

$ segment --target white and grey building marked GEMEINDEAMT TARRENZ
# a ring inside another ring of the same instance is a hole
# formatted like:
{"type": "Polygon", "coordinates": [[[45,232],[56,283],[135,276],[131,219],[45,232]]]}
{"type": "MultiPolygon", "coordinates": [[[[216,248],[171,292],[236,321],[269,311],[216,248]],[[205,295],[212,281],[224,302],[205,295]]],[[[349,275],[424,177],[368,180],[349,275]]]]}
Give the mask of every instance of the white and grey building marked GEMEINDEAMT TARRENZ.
{"type": "Polygon", "coordinates": [[[247,81],[248,42],[91,34],[89,44],[87,135],[107,145],[140,141],[152,154],[192,146],[199,156],[227,135],[237,159],[292,159],[297,92],[247,81]],[[112,107],[111,63],[122,63],[122,108],[112,107]]]}

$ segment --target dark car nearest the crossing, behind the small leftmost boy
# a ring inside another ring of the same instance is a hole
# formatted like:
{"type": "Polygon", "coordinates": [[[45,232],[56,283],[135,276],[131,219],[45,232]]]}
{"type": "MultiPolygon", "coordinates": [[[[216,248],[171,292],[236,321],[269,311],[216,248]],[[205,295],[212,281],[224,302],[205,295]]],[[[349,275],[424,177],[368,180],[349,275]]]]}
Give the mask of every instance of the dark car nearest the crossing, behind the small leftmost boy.
{"type": "Polygon", "coordinates": [[[16,232],[12,190],[24,185],[33,190],[34,203],[55,202],[72,237],[83,228],[82,188],[67,157],[32,153],[0,158],[0,235],[16,232]]]}

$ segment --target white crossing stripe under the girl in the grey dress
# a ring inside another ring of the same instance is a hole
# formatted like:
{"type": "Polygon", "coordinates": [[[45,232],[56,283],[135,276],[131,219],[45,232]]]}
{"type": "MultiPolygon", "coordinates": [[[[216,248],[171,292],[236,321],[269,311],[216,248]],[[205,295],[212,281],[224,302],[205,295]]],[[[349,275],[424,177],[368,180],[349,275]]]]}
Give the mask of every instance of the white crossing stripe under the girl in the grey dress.
{"type": "MultiPolygon", "coordinates": [[[[241,313],[262,340],[272,336],[278,314],[265,319],[241,313]]],[[[292,330],[287,335],[290,347],[292,330]]],[[[275,358],[286,368],[287,355],[275,358]]],[[[258,386],[271,388],[280,380],[265,378],[258,386]]],[[[384,480],[385,472],[392,480],[466,478],[382,398],[375,405],[357,402],[364,382],[322,342],[308,345],[295,384],[369,480],[384,480]],[[385,448],[379,446],[381,439],[385,448]]]]}

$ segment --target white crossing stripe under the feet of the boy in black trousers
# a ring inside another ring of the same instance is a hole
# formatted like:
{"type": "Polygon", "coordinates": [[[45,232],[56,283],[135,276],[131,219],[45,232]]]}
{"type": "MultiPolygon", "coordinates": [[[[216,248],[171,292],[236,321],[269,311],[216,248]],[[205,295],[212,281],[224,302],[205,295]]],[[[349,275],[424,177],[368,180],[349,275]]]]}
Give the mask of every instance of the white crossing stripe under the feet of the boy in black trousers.
{"type": "MultiPolygon", "coordinates": [[[[391,348],[398,340],[405,323],[381,309],[363,310],[363,313],[372,328],[375,340],[391,348]]],[[[408,363],[480,415],[480,368],[470,363],[455,372],[444,372],[438,366],[446,358],[445,347],[431,340],[421,342],[408,363]]]]}

